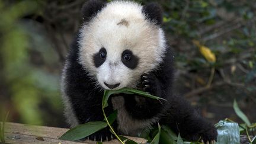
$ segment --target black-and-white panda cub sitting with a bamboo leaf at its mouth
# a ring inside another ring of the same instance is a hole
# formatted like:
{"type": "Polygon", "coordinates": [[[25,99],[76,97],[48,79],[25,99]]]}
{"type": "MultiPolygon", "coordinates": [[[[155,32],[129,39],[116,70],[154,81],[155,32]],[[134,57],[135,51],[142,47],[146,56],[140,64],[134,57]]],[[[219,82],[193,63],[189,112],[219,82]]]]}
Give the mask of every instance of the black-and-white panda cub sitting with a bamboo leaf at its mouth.
{"type": "MultiPolygon", "coordinates": [[[[82,7],[82,19],[62,73],[65,116],[71,127],[103,121],[104,89],[127,87],[167,101],[136,94],[112,96],[105,112],[118,111],[113,127],[120,135],[137,136],[160,123],[188,140],[216,140],[213,124],[172,94],[174,56],[161,28],[162,11],[157,4],[91,0],[82,7]]],[[[88,138],[110,140],[113,136],[105,128],[88,138]]]]}

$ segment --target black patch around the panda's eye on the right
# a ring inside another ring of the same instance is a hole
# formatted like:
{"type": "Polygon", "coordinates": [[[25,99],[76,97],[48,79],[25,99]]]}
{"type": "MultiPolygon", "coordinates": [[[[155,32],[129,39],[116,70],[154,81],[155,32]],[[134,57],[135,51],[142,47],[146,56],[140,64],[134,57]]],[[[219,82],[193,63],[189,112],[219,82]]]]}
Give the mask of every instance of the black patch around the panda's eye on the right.
{"type": "Polygon", "coordinates": [[[139,63],[139,58],[133,55],[132,51],[124,50],[121,55],[121,61],[127,68],[135,69],[137,64],[139,63]]]}

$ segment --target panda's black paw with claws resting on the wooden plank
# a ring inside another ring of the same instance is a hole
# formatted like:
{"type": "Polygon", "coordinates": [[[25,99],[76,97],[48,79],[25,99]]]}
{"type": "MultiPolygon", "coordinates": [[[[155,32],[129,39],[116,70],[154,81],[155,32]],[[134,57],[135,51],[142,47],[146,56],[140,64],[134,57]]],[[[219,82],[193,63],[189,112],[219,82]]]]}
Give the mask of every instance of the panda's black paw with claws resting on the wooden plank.
{"type": "Polygon", "coordinates": [[[114,139],[112,133],[108,128],[100,130],[90,136],[87,137],[89,140],[93,140],[95,142],[103,142],[103,141],[110,141],[114,139]]]}

